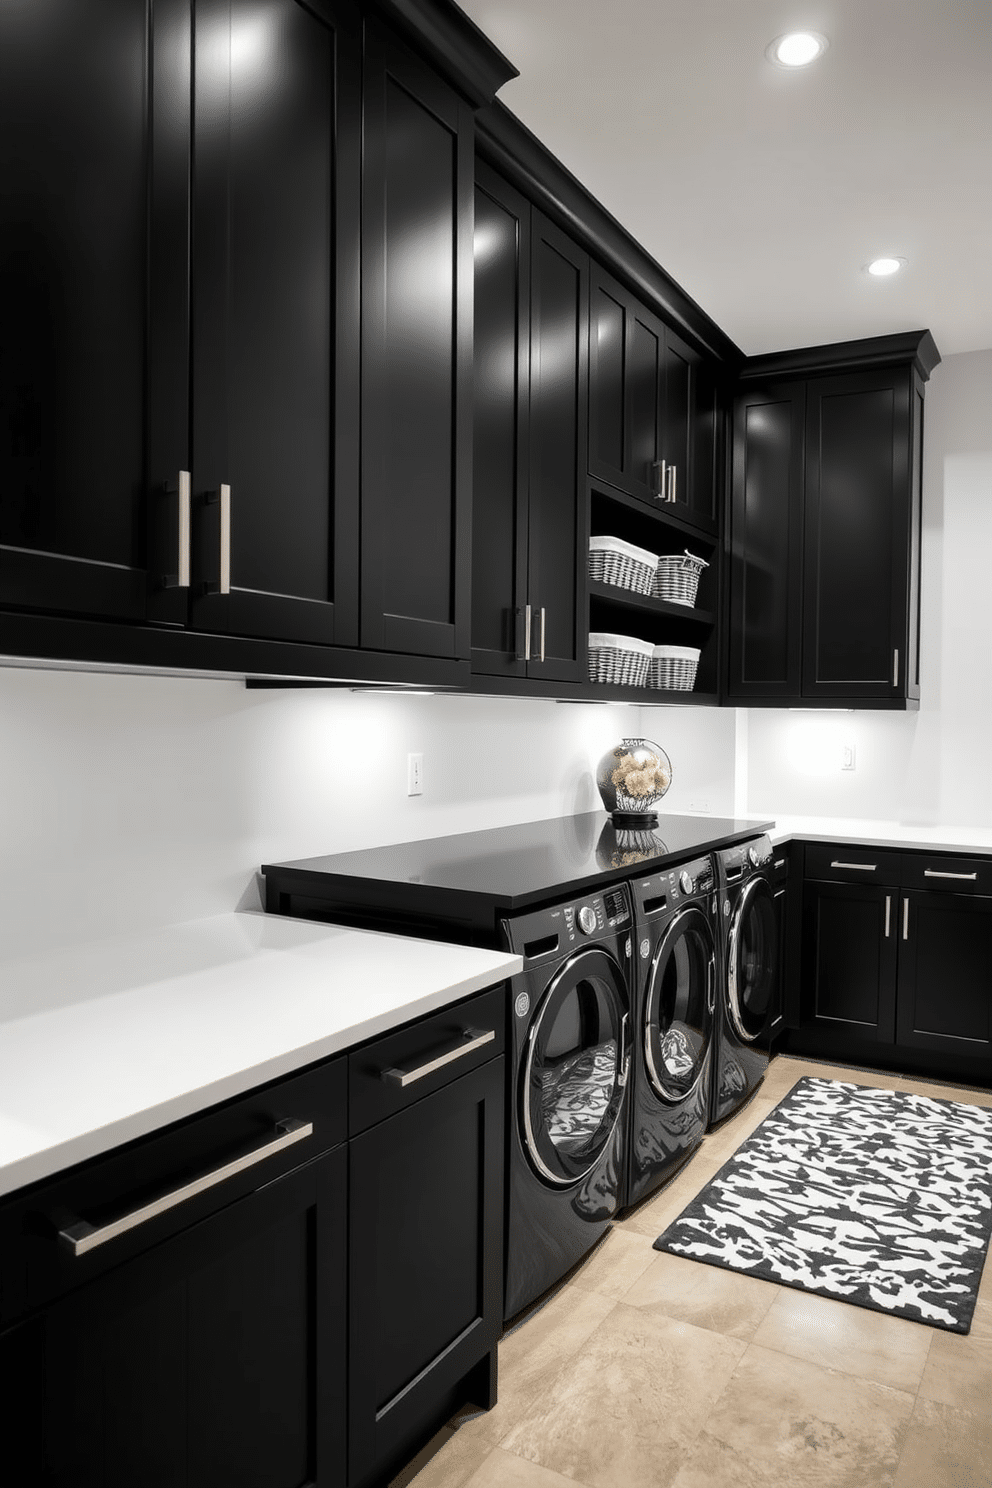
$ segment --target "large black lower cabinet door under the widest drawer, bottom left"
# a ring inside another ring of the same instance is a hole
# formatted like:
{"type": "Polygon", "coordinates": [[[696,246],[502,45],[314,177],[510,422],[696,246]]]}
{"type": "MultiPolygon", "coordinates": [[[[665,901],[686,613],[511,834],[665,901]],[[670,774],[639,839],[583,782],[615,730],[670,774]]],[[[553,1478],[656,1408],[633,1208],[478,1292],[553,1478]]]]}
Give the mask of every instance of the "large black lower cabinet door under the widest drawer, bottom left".
{"type": "Polygon", "coordinates": [[[342,1147],[0,1335],[4,1460],[52,1488],[342,1484],[345,1202],[342,1147]]]}

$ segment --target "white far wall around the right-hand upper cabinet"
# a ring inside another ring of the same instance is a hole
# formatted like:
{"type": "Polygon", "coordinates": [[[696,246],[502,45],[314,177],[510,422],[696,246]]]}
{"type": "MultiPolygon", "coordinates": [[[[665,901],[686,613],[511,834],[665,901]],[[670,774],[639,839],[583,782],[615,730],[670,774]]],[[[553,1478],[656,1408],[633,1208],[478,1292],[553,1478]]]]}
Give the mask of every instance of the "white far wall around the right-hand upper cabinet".
{"type": "Polygon", "coordinates": [[[919,713],[748,710],[742,809],[992,824],[992,351],[927,388],[921,662],[919,713]]]}

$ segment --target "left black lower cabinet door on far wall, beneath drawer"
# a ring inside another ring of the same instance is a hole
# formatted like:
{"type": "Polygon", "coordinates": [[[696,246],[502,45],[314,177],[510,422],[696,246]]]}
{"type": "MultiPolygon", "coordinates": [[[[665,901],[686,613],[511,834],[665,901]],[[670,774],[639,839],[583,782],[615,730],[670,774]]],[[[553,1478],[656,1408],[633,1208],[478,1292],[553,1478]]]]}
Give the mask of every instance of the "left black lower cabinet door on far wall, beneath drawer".
{"type": "Polygon", "coordinates": [[[805,885],[805,1024],[837,1040],[892,1043],[897,900],[885,885],[805,885]]]}

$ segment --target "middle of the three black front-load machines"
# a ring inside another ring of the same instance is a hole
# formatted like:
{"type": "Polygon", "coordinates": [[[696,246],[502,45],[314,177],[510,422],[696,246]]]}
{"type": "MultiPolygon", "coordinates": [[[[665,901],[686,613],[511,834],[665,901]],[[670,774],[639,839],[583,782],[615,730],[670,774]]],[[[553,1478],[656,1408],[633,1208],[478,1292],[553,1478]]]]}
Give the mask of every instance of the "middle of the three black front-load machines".
{"type": "Polygon", "coordinates": [[[638,976],[626,1204],[665,1183],[709,1125],[715,890],[711,857],[631,881],[638,976]]]}

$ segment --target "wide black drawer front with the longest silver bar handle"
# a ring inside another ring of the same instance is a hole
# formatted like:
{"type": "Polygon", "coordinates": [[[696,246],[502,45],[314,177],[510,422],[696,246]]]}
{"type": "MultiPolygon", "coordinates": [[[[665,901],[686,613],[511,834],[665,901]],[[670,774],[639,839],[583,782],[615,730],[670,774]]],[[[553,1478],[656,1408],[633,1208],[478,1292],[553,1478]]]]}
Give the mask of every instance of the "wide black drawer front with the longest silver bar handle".
{"type": "Polygon", "coordinates": [[[13,1196],[0,1208],[0,1321],[103,1275],[345,1141],[347,1082],[347,1059],[329,1061],[13,1196]],[[283,1140],[293,1132],[294,1140],[283,1140]],[[210,1181],[239,1159],[241,1171],[210,1181]],[[61,1235],[80,1222],[100,1232],[186,1186],[198,1192],[82,1253],[61,1235]]]}

